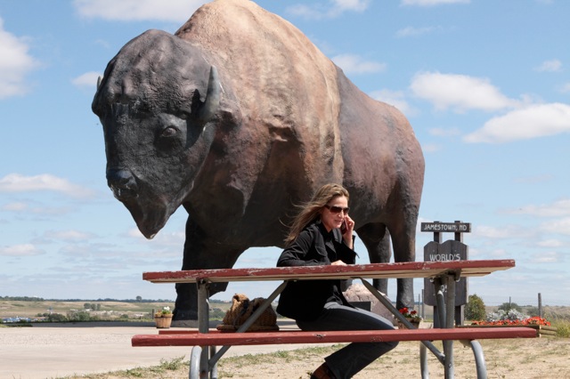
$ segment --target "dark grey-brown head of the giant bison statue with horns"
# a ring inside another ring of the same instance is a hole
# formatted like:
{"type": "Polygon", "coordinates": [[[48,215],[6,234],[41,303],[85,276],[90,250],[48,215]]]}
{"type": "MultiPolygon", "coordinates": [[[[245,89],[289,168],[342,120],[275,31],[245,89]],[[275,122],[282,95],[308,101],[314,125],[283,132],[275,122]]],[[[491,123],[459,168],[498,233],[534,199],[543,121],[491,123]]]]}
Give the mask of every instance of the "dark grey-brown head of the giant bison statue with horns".
{"type": "Polygon", "coordinates": [[[159,30],[134,38],[105,69],[92,108],[107,181],[146,238],[192,189],[214,138],[220,88],[199,48],[159,30]]]}

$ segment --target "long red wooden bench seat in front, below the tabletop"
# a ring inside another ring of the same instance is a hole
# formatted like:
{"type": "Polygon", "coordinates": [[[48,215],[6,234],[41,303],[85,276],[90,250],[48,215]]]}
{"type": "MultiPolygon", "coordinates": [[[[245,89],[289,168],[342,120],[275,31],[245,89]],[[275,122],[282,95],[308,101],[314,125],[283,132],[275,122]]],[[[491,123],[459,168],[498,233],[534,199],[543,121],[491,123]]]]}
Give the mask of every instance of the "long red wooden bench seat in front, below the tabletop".
{"type": "Polygon", "coordinates": [[[377,343],[394,341],[447,341],[497,338],[533,338],[530,327],[456,328],[456,329],[397,329],[353,330],[320,332],[252,332],[252,333],[198,333],[176,331],[159,335],[134,335],[132,345],[144,346],[224,346],[289,343],[377,343]]]}

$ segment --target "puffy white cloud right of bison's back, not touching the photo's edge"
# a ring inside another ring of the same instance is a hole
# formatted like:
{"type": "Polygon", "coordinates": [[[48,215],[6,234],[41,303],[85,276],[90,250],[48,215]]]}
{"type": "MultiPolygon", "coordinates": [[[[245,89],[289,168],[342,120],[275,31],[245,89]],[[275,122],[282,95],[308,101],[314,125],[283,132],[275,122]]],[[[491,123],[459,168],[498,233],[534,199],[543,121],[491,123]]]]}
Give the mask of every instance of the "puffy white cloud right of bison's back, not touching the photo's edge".
{"type": "Polygon", "coordinates": [[[415,96],[430,101],[438,110],[496,111],[517,105],[485,78],[423,72],[412,78],[410,87],[415,96]]]}

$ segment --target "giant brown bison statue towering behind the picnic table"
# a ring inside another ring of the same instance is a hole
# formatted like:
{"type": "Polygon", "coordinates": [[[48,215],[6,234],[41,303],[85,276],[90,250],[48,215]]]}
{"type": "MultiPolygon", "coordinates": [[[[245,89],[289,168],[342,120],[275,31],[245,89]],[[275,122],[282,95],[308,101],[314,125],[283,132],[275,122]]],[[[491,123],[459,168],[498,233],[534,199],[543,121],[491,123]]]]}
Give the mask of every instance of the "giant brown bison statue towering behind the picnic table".
{"type": "MultiPolygon", "coordinates": [[[[142,234],[188,212],[183,270],[283,246],[295,205],[326,182],[350,191],[371,262],[389,262],[390,238],[395,262],[415,260],[424,159],[410,124],[253,2],[217,0],[175,35],[135,37],[110,60],[93,111],[110,189],[142,234]]],[[[398,307],[413,304],[412,286],[398,279],[398,307]]],[[[175,320],[196,319],[196,286],[176,292],[175,320]]]]}

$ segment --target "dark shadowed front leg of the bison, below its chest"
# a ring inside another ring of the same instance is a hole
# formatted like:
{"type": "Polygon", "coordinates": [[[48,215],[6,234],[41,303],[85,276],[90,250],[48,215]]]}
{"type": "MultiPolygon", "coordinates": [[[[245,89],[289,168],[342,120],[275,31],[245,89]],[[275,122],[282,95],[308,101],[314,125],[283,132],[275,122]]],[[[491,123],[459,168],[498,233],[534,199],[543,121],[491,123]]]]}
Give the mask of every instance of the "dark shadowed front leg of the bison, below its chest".
{"type": "MultiPolygon", "coordinates": [[[[208,237],[188,219],[182,270],[231,269],[245,248],[227,246],[208,237]]],[[[198,319],[198,287],[194,283],[176,283],[174,321],[198,319]]],[[[227,283],[213,283],[209,293],[225,291],[227,283]]]]}

